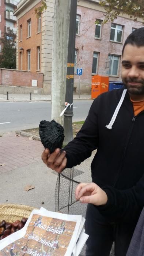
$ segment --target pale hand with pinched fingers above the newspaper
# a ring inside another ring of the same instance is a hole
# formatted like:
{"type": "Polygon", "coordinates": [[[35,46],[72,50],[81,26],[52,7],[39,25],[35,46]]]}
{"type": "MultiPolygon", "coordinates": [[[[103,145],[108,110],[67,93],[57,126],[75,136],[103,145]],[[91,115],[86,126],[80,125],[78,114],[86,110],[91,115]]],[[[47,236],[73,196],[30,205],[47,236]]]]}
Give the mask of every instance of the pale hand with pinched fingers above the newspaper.
{"type": "Polygon", "coordinates": [[[91,203],[96,206],[107,203],[106,192],[93,182],[80,183],[76,187],[75,197],[76,200],[80,200],[81,203],[91,203]]]}

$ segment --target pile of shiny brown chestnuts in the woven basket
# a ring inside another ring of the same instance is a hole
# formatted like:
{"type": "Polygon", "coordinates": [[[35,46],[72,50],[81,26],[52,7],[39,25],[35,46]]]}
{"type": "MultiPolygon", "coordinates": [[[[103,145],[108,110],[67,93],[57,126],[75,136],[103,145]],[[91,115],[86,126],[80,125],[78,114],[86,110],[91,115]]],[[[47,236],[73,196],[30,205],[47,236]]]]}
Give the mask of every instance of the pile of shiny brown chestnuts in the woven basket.
{"type": "Polygon", "coordinates": [[[27,218],[22,218],[21,221],[17,220],[15,222],[6,222],[6,221],[1,221],[0,222],[0,240],[3,238],[9,236],[10,234],[22,229],[24,225],[27,222],[27,218]]]}

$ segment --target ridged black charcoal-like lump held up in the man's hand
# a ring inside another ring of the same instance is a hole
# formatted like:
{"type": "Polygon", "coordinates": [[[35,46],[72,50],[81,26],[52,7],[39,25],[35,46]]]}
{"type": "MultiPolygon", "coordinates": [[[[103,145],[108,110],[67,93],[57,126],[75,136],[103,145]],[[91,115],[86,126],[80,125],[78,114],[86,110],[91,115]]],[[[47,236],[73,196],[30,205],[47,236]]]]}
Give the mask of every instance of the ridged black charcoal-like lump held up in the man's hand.
{"type": "Polygon", "coordinates": [[[51,154],[56,148],[62,148],[64,128],[54,120],[43,120],[39,124],[39,136],[43,146],[49,148],[51,154]]]}

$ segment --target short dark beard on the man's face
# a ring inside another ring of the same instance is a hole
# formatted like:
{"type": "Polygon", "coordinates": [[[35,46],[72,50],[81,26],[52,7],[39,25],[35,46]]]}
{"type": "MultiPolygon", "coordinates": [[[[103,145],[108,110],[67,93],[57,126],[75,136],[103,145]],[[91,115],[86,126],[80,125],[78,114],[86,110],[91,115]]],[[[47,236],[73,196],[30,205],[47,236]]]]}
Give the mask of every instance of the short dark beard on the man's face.
{"type": "Polygon", "coordinates": [[[134,95],[143,95],[144,94],[144,80],[136,80],[136,79],[122,79],[122,82],[127,89],[128,93],[134,95]],[[132,86],[128,83],[140,83],[138,86],[132,86]]]}

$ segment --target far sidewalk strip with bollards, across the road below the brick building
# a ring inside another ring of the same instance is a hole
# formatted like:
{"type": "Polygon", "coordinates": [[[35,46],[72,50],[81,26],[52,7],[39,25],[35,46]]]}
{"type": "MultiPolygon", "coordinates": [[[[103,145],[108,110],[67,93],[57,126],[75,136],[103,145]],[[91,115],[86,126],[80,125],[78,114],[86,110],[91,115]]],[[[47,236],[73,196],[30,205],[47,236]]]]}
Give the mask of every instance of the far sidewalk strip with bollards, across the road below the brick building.
{"type": "MultiPolygon", "coordinates": [[[[73,99],[91,99],[90,94],[73,94],[73,99]]],[[[30,101],[30,94],[0,94],[0,101],[30,101]]],[[[51,95],[31,94],[31,101],[51,101],[51,95]]]]}

